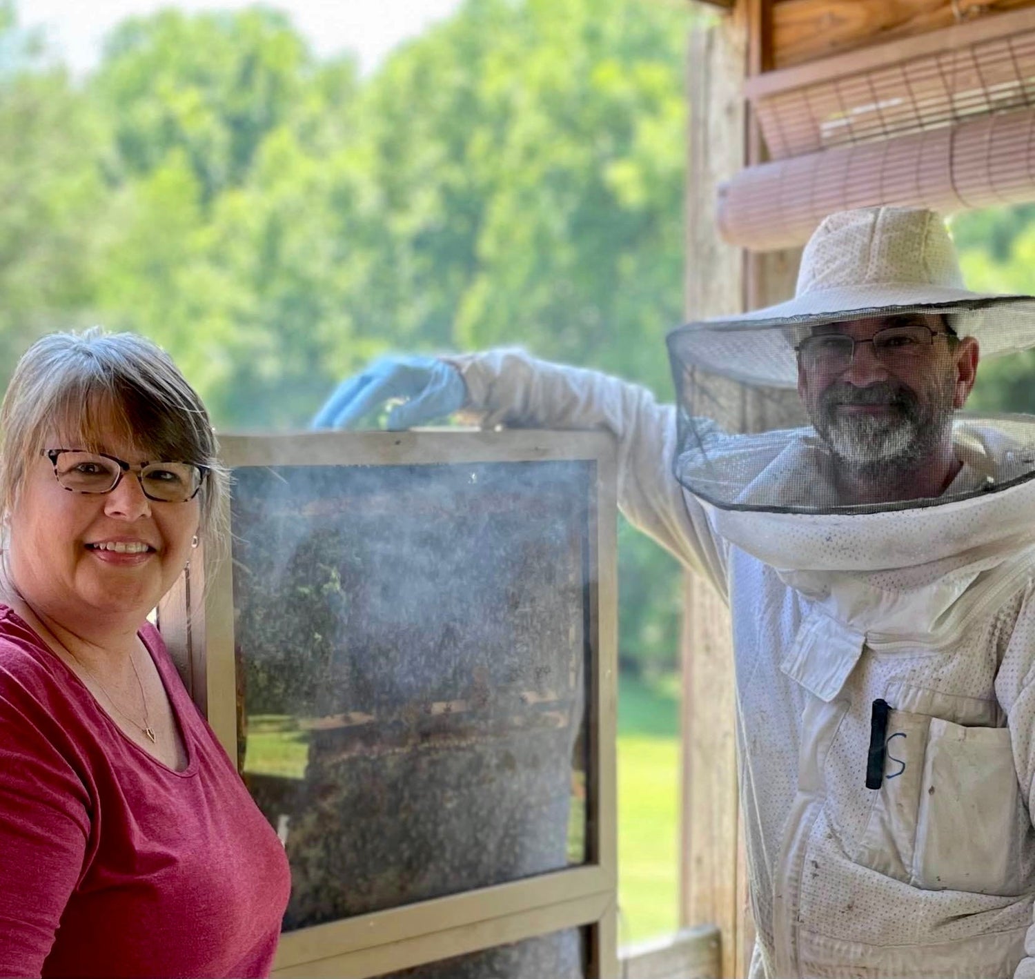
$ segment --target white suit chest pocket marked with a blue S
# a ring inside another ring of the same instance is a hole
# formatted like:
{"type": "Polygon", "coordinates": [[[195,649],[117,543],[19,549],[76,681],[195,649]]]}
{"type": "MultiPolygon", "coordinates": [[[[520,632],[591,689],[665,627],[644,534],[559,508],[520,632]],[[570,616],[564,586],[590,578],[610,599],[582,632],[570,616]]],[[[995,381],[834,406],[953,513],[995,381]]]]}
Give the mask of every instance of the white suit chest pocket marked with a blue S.
{"type": "Polygon", "coordinates": [[[892,710],[855,860],[925,890],[1019,894],[1031,824],[1006,728],[892,710]]]}

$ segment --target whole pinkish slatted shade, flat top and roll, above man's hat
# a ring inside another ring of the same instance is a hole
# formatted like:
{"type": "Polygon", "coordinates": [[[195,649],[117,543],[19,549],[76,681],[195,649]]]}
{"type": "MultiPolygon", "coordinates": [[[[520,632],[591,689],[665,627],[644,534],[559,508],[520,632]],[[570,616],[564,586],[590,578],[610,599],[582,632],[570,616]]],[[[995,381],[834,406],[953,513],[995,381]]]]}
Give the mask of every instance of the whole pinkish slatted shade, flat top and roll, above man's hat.
{"type": "Polygon", "coordinates": [[[1035,201],[1035,7],[748,81],[772,161],[719,189],[752,250],[804,242],[833,211],[1035,201]]]}

